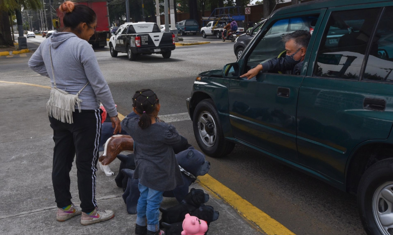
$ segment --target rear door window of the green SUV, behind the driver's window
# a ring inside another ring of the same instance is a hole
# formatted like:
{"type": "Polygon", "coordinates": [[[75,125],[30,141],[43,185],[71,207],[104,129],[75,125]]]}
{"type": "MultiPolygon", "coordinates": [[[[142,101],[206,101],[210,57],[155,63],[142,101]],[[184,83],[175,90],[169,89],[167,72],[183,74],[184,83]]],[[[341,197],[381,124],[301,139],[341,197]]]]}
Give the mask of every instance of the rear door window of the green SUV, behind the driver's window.
{"type": "Polygon", "coordinates": [[[321,40],[314,75],[358,80],[379,11],[333,12],[321,40]]]}

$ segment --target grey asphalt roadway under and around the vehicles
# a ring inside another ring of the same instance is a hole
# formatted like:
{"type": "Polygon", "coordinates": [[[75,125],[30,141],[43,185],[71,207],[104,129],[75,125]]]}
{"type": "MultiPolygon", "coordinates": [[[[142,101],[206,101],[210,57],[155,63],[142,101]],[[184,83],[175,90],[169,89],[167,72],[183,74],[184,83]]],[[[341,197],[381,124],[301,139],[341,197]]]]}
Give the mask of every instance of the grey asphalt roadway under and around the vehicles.
{"type": "MultiPolygon", "coordinates": [[[[184,38],[203,40],[202,36],[184,38]]],[[[34,40],[39,39],[29,38],[28,43],[34,40]]],[[[130,96],[135,90],[151,88],[160,98],[160,115],[173,114],[176,129],[197,146],[192,122],[185,114],[185,99],[190,96],[191,86],[199,72],[220,68],[236,60],[233,43],[213,37],[206,40],[211,43],[176,47],[170,59],[151,55],[129,61],[126,54],[112,58],[107,47],[97,49],[97,60],[119,112],[130,112],[130,96]]],[[[3,72],[0,80],[49,85],[47,78],[29,70],[28,58],[29,55],[7,60],[0,58],[0,71],[3,72]]],[[[365,235],[353,195],[242,146],[235,146],[225,158],[207,159],[212,166],[209,175],[295,234],[365,235]]]]}

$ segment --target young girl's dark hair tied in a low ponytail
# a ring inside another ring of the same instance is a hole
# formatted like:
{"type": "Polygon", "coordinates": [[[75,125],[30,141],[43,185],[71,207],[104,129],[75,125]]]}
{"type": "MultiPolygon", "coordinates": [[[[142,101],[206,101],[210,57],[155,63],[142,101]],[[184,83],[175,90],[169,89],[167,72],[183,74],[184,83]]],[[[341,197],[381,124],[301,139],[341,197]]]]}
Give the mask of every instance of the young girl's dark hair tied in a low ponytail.
{"type": "Polygon", "coordinates": [[[132,107],[141,114],[138,125],[145,129],[151,125],[151,116],[158,105],[156,93],[150,89],[138,90],[132,98],[132,107]]]}

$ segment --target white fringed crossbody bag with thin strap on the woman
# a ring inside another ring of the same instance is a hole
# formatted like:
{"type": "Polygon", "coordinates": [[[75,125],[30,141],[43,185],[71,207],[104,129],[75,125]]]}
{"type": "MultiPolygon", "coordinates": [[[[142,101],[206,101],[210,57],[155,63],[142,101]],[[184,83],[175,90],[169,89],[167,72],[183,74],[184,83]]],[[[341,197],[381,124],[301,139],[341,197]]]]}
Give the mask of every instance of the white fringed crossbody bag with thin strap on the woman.
{"type": "Polygon", "coordinates": [[[51,54],[51,46],[49,45],[50,63],[52,66],[53,87],[51,88],[50,98],[46,103],[46,112],[48,116],[53,117],[63,123],[73,123],[72,113],[75,112],[75,106],[79,107],[81,112],[81,102],[79,93],[89,84],[86,83],[84,87],[79,90],[77,94],[70,94],[64,90],[56,87],[55,72],[53,72],[53,62],[51,54]]]}

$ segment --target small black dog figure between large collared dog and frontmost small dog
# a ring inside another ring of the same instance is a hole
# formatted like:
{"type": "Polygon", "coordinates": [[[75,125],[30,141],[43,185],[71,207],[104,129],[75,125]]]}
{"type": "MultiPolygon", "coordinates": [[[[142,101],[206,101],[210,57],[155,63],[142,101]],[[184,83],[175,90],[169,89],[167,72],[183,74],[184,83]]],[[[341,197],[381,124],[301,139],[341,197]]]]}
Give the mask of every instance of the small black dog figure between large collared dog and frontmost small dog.
{"type": "Polygon", "coordinates": [[[207,201],[209,201],[209,194],[204,193],[203,190],[191,188],[180,204],[167,209],[160,208],[162,212],[160,224],[162,222],[167,224],[182,222],[186,214],[191,214],[207,201]]]}

